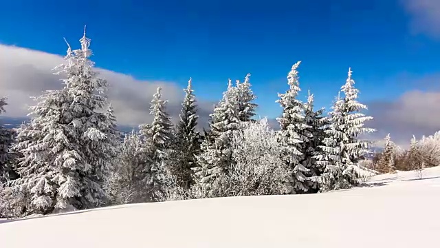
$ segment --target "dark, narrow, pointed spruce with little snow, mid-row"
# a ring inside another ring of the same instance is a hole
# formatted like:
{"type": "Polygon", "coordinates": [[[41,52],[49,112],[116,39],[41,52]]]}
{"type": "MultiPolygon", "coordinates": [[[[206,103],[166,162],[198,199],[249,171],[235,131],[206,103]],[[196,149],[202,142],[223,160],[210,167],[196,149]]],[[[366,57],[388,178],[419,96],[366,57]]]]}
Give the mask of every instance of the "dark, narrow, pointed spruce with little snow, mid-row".
{"type": "Polygon", "coordinates": [[[192,167],[196,166],[196,155],[200,154],[200,134],[196,130],[197,105],[192,90],[191,79],[184,90],[185,98],[179,115],[180,120],[175,127],[175,135],[170,151],[167,154],[166,166],[176,177],[179,186],[188,188],[192,185],[192,167]]]}

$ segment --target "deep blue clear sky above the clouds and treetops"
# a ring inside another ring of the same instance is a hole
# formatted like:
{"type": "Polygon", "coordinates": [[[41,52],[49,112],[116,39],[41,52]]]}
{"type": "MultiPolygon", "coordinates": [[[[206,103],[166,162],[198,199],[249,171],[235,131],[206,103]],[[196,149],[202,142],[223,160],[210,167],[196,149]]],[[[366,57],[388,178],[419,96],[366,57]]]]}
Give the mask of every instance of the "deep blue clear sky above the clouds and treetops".
{"type": "MultiPolygon", "coordinates": [[[[402,1],[5,1],[0,43],[64,54],[83,25],[100,68],[136,79],[193,79],[217,100],[228,78],[252,74],[259,114],[274,117],[277,92],[300,66],[300,86],[329,106],[349,66],[364,102],[420,89],[408,79],[438,72],[437,39],[414,34],[402,1]]],[[[430,85],[428,85],[430,87],[430,85]]]]}

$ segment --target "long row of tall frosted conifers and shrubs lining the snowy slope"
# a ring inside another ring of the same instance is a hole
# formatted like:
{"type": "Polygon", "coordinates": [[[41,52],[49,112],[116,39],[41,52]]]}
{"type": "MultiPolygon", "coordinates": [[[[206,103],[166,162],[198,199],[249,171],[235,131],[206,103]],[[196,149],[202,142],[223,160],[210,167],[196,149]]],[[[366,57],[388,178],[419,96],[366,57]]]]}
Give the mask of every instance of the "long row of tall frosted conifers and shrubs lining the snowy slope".
{"type": "MultiPolygon", "coordinates": [[[[69,44],[56,74],[61,90],[34,98],[31,119],[16,130],[0,128],[0,216],[51,214],[104,205],[220,196],[313,194],[347,189],[372,171],[360,161],[371,142],[361,134],[372,117],[362,114],[352,71],[331,110],[315,110],[314,95],[298,99],[300,61],[278,94],[283,113],[274,131],[256,118],[250,74],[230,80],[197,130],[192,80],[177,124],[157,88],[151,123],[122,135],[106,96],[107,81],[94,69],[90,39],[69,44]]],[[[4,112],[6,99],[0,101],[4,112]]]]}

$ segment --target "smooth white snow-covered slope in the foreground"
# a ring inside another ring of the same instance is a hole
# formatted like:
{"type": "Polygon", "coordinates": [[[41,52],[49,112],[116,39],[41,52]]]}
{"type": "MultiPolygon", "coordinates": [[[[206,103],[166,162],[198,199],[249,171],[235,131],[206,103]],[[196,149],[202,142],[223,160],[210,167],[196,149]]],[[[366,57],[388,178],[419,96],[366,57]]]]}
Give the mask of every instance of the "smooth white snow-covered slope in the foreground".
{"type": "Polygon", "coordinates": [[[440,247],[440,167],[326,194],[120,205],[0,223],[0,247],[440,247]]]}

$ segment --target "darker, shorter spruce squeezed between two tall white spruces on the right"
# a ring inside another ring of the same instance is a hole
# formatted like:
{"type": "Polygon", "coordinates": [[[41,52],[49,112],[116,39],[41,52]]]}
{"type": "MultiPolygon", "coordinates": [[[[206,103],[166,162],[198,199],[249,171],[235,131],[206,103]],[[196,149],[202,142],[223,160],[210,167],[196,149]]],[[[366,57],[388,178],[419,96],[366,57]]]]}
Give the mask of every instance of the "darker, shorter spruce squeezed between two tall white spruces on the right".
{"type": "MultiPolygon", "coordinates": [[[[303,153],[302,164],[310,170],[307,172],[307,175],[315,179],[318,179],[322,172],[324,172],[324,168],[320,166],[316,160],[316,156],[322,154],[320,146],[324,145],[322,141],[324,141],[324,138],[327,136],[325,130],[327,125],[329,125],[328,118],[323,116],[323,113],[323,108],[314,111],[314,95],[309,92],[307,103],[304,105],[304,115],[305,124],[308,126],[307,130],[311,133],[311,138],[302,146],[303,150],[301,152],[303,153]]],[[[307,193],[316,193],[319,191],[318,180],[308,180],[308,183],[309,190],[307,193]]]]}

